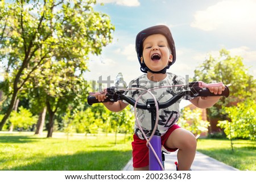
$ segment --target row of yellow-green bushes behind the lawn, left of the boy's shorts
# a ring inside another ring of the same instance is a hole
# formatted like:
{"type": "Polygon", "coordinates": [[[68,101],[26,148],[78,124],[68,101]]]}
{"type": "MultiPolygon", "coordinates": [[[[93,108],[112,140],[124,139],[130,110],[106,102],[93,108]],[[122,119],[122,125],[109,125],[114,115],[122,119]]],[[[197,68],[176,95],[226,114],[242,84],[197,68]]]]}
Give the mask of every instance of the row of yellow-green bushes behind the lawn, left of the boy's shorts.
{"type": "Polygon", "coordinates": [[[72,131],[76,133],[132,133],[134,115],[129,107],[117,113],[110,112],[102,104],[94,104],[92,107],[74,112],[72,115],[70,112],[65,113],[63,122],[64,131],[72,128],[72,131]]]}

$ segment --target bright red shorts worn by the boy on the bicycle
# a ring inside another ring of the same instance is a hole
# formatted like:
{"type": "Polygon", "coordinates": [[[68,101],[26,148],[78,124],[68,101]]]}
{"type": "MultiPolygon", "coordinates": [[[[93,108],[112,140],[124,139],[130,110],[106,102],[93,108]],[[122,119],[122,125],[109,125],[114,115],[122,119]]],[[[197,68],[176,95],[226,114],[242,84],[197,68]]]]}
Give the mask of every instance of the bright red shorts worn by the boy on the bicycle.
{"type": "MultiPolygon", "coordinates": [[[[165,142],[167,141],[170,134],[175,130],[180,128],[179,125],[174,125],[171,128],[169,128],[161,137],[161,143],[168,151],[176,151],[177,149],[170,149],[165,146],[165,142]]],[[[148,147],[146,145],[147,141],[146,139],[140,139],[137,135],[134,134],[133,136],[133,142],[131,142],[131,146],[133,147],[133,167],[145,167],[148,166],[148,147]]]]}

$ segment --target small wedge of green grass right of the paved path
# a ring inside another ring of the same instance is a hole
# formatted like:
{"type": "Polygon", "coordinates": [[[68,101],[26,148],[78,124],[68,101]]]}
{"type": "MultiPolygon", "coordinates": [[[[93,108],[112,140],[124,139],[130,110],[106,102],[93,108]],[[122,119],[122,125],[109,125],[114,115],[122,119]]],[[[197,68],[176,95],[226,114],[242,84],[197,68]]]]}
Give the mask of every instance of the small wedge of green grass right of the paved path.
{"type": "Polygon", "coordinates": [[[256,171],[256,142],[234,140],[234,152],[228,139],[199,139],[197,151],[233,166],[238,170],[256,171]]]}

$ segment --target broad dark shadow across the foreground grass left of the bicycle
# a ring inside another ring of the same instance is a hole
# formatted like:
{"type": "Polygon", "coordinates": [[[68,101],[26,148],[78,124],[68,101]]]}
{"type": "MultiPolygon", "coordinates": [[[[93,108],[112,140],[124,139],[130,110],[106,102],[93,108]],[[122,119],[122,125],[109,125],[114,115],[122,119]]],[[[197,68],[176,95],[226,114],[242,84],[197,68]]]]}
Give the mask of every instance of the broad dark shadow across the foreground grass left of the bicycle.
{"type": "MultiPolygon", "coordinates": [[[[3,170],[10,171],[118,171],[131,158],[131,151],[94,151],[49,158],[27,159],[28,164],[3,170]]],[[[20,159],[26,160],[26,159],[20,159]]]]}

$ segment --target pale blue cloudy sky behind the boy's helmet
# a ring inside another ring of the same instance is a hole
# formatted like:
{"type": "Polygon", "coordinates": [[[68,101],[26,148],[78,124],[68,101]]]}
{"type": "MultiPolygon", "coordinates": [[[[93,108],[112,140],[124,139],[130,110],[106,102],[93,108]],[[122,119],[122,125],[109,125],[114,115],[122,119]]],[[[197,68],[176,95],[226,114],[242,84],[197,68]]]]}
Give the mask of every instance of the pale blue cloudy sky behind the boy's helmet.
{"type": "Polygon", "coordinates": [[[135,37],[144,28],[165,24],[176,45],[176,62],[168,72],[193,77],[196,66],[221,49],[241,56],[249,74],[256,76],[256,0],[98,0],[95,11],[110,16],[115,26],[113,43],[101,56],[92,56],[88,80],[124,81],[143,73],[135,52],[135,37]],[[100,3],[104,3],[101,6],[100,3]],[[109,78],[108,78],[109,77],[109,78]]]}

